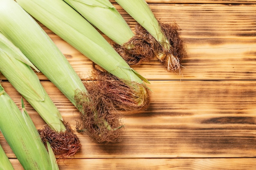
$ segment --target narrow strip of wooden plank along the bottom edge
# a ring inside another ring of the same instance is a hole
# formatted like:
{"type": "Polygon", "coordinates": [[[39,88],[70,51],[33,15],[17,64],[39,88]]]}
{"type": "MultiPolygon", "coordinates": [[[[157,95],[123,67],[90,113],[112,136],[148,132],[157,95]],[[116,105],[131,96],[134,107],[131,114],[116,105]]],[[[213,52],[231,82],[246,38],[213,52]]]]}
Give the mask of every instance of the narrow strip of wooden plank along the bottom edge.
{"type": "MultiPolygon", "coordinates": [[[[67,159],[59,161],[60,170],[253,170],[255,158],[243,159],[67,159]]],[[[11,159],[15,170],[24,170],[11,159]]]]}

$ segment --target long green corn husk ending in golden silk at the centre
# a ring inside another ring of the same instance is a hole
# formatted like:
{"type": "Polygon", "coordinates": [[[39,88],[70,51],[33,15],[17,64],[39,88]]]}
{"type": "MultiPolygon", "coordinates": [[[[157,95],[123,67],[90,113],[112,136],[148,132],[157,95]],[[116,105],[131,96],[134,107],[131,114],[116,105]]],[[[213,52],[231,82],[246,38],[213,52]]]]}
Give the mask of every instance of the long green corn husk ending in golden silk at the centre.
{"type": "Polygon", "coordinates": [[[124,82],[129,82],[130,88],[137,94],[129,96],[134,99],[132,99],[132,106],[127,106],[128,109],[139,110],[148,106],[148,92],[141,79],[147,80],[130,68],[94,26],[72,7],[63,0],[17,0],[17,2],[30,15],[74,46],[92,62],[124,82]]]}

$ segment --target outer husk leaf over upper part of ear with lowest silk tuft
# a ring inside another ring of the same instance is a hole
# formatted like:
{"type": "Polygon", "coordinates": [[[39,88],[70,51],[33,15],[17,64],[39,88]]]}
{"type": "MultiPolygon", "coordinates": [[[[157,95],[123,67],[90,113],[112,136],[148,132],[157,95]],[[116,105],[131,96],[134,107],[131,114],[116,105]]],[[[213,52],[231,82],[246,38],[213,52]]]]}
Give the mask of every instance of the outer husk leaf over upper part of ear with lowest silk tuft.
{"type": "Polygon", "coordinates": [[[29,68],[29,66],[36,67],[2,33],[0,33],[0,56],[0,71],[15,77],[13,81],[17,84],[18,91],[31,100],[43,101],[45,94],[40,84],[22,86],[22,82],[26,83],[31,79],[38,79],[34,71],[31,74],[32,69],[29,68]]]}

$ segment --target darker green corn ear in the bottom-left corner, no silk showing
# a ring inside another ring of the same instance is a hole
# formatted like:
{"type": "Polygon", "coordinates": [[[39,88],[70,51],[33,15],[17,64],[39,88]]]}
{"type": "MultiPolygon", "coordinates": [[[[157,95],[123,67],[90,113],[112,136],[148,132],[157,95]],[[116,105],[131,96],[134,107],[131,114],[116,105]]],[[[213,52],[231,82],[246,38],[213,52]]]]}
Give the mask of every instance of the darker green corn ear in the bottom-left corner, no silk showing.
{"type": "Polygon", "coordinates": [[[25,170],[52,170],[49,154],[23,101],[20,112],[1,85],[0,131],[25,170]]]}

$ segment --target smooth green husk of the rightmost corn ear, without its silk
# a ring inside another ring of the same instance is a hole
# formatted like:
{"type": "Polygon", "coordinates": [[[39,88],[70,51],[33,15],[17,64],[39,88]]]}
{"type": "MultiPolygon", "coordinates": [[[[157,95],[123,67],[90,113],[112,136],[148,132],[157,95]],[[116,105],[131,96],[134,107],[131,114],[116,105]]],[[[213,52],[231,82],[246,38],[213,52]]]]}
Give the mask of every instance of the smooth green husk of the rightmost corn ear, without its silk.
{"type": "Polygon", "coordinates": [[[143,26],[165,49],[171,45],[161,30],[159,22],[145,0],[116,0],[116,2],[143,26]]]}

